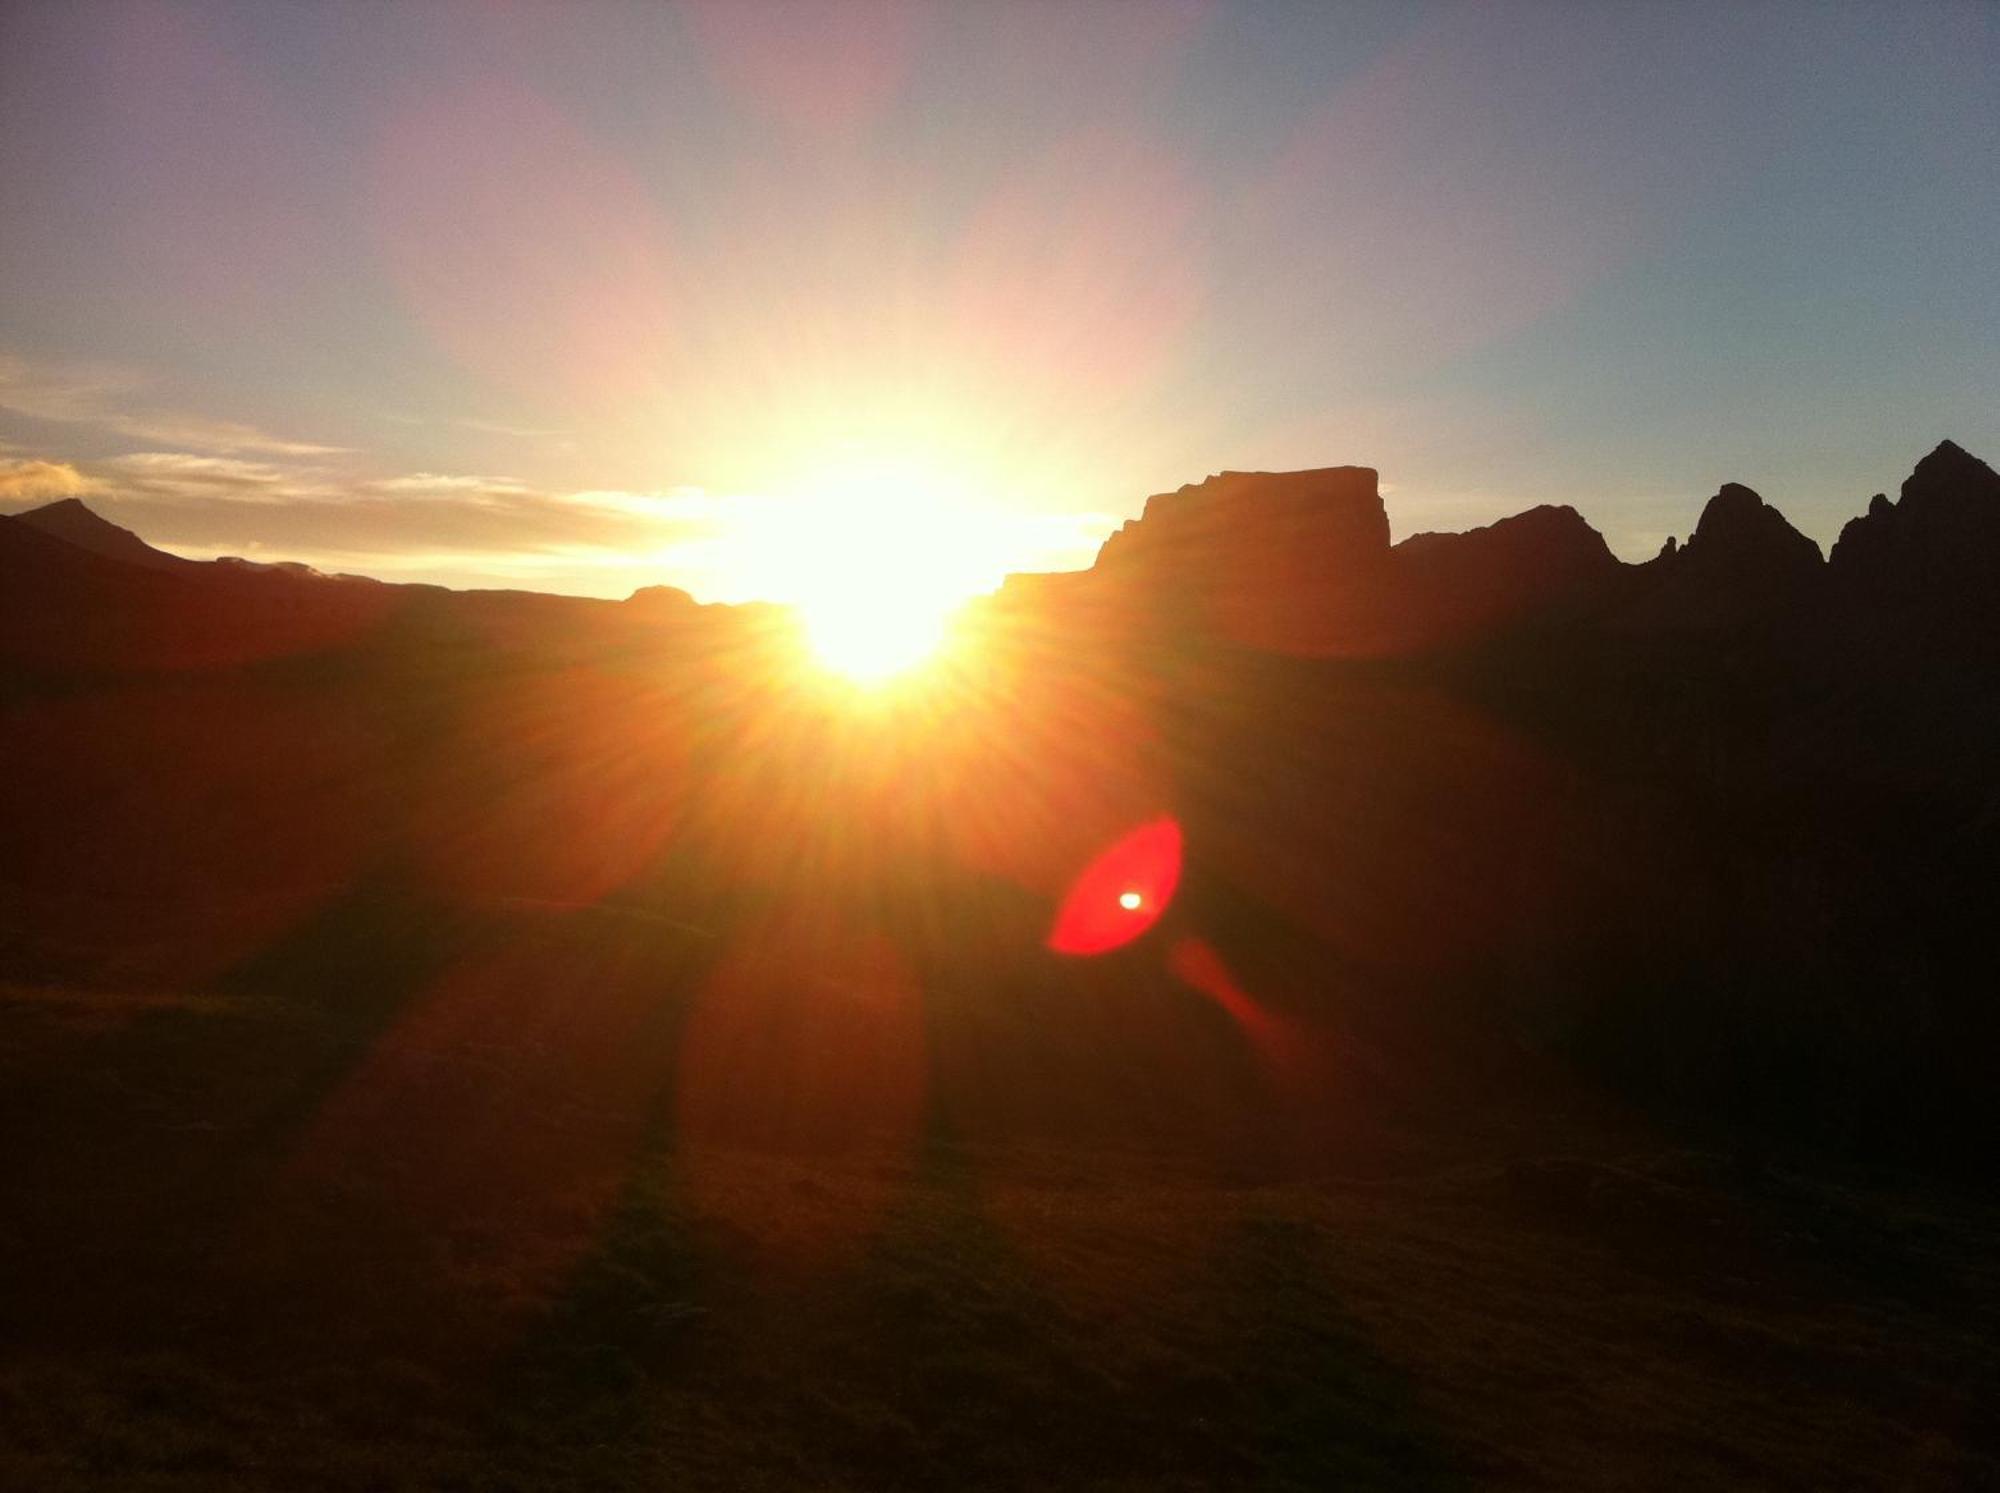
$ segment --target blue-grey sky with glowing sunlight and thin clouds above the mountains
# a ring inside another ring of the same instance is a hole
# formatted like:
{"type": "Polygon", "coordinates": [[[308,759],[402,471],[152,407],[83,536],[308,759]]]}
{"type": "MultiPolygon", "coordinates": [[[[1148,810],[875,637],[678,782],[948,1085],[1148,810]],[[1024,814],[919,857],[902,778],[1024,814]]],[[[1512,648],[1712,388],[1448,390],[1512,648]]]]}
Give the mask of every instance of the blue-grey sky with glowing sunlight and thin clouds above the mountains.
{"type": "Polygon", "coordinates": [[[2000,6],[0,0],[0,512],[194,556],[786,600],[1346,462],[1828,546],[2000,460],[2000,6]]]}

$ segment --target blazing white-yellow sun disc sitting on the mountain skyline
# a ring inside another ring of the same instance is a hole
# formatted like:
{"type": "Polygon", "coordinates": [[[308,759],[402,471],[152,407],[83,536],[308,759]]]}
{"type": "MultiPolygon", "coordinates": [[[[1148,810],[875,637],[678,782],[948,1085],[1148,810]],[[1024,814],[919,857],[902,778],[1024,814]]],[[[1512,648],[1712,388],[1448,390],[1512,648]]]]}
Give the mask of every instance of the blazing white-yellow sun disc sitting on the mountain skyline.
{"type": "Polygon", "coordinates": [[[946,646],[954,614],[1002,578],[998,516],[918,460],[816,472],[784,536],[786,590],[818,660],[880,684],[946,646]]]}

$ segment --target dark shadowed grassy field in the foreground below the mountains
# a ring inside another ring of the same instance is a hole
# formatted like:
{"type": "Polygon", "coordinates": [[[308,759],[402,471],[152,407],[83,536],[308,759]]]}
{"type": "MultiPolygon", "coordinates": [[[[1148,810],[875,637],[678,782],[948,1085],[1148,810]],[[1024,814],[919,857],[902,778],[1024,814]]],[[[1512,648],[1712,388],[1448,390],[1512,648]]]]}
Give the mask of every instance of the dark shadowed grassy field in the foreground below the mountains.
{"type": "Polygon", "coordinates": [[[0,989],[0,1485],[2000,1481],[1948,1185],[1380,1083],[716,1147],[626,1015],[0,989]]]}

